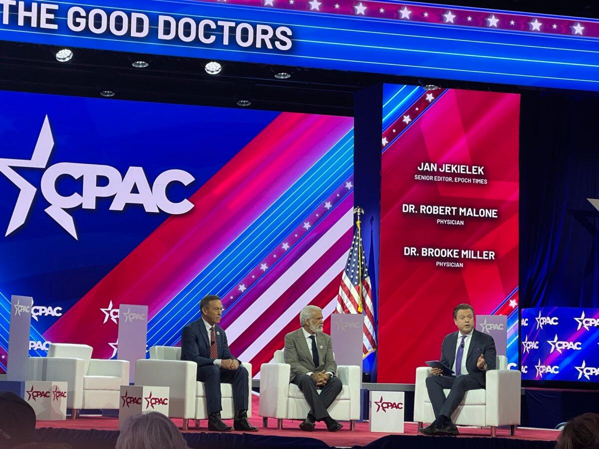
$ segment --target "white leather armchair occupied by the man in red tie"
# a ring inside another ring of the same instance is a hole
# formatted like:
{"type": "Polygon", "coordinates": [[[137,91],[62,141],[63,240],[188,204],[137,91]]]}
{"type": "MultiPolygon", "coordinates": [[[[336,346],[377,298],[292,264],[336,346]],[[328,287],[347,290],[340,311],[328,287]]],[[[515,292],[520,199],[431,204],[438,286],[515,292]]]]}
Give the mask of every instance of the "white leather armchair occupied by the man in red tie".
{"type": "MultiPolygon", "coordinates": [[[[189,427],[189,420],[208,419],[206,395],[203,382],[196,381],[197,364],[181,359],[181,348],[153,346],[149,360],[137,360],[135,363],[135,385],[170,387],[168,415],[171,418],[183,418],[183,429],[189,427]]],[[[249,398],[247,417],[252,417],[252,365],[241,363],[247,369],[249,398]]],[[[235,417],[233,389],[231,384],[221,384],[223,419],[235,417]]]]}

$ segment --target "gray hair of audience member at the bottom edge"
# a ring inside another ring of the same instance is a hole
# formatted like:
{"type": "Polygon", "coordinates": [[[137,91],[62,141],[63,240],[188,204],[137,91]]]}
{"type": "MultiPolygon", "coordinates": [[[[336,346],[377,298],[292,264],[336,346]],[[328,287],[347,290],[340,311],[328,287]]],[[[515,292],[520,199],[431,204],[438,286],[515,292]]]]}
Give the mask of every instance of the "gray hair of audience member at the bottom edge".
{"type": "Polygon", "coordinates": [[[130,416],[120,431],[116,449],[188,449],[179,429],[159,412],[130,416]]]}

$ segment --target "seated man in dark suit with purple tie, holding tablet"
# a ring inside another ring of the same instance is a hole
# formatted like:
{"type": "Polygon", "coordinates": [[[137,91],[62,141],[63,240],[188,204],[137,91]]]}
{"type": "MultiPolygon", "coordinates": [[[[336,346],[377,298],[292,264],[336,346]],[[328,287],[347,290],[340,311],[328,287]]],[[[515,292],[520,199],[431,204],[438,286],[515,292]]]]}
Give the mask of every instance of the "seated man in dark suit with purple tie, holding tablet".
{"type": "Polygon", "coordinates": [[[443,376],[441,368],[431,368],[432,376],[426,378],[426,389],[436,418],[430,426],[420,429],[425,435],[458,435],[451,415],[468,390],[485,388],[486,372],[495,369],[495,342],[491,335],[474,329],[472,306],[458,305],[453,310],[453,322],[458,331],[443,339],[440,362],[455,375],[443,376]],[[444,389],[450,389],[447,398],[444,389]]]}

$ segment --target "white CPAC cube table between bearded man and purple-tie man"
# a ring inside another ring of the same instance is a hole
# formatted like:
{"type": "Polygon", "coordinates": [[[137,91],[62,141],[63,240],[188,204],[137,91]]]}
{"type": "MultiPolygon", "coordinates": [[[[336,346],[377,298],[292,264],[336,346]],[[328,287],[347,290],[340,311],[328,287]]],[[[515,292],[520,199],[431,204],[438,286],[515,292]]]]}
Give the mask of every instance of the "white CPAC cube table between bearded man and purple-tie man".
{"type": "Polygon", "coordinates": [[[404,392],[370,392],[370,432],[404,433],[404,392]]]}

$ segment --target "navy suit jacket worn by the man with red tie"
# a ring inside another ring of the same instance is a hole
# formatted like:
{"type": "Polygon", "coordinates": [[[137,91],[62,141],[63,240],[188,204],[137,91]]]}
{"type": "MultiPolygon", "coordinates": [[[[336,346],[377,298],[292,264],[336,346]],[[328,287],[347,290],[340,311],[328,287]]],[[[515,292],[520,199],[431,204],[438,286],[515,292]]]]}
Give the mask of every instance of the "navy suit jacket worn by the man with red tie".
{"type": "MultiPolygon", "coordinates": [[[[229,351],[225,330],[218,324],[214,324],[214,336],[216,337],[216,347],[219,354],[217,359],[235,359],[229,351]]],[[[181,334],[181,360],[195,362],[198,367],[214,365],[214,359],[210,358],[210,335],[202,318],[187,324],[183,328],[181,334]]]]}

